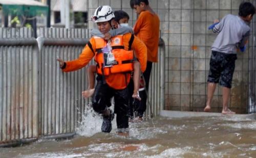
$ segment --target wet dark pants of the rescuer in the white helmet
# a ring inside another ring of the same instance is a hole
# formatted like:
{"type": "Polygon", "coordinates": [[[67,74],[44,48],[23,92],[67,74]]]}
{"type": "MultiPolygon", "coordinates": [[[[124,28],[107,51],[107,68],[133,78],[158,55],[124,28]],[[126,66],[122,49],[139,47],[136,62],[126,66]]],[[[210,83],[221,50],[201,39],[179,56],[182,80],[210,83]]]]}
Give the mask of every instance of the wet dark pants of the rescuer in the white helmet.
{"type": "Polygon", "coordinates": [[[92,100],[94,111],[102,113],[108,106],[110,99],[114,97],[117,128],[128,128],[128,89],[116,90],[108,84],[103,84],[102,76],[97,76],[97,85],[92,100]]]}

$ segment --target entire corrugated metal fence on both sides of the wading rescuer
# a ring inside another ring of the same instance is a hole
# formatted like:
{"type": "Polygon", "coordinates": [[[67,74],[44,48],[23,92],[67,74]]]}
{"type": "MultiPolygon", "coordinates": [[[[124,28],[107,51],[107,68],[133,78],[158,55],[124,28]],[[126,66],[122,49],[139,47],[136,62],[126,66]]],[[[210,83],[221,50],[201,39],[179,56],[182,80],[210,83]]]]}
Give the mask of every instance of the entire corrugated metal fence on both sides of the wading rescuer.
{"type": "MultiPolygon", "coordinates": [[[[56,61],[78,58],[89,30],[42,28],[39,36],[25,28],[0,29],[0,146],[73,136],[89,103],[81,97],[88,87],[86,68],[63,73],[56,61]]],[[[163,40],[159,45],[146,118],[164,107],[163,40]]]]}

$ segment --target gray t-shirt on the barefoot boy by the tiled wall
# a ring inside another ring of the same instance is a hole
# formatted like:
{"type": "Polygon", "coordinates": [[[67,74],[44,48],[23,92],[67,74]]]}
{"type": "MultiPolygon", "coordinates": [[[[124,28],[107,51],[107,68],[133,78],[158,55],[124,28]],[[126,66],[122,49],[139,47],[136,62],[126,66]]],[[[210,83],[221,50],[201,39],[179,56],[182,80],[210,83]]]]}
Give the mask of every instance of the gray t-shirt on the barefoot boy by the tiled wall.
{"type": "Polygon", "coordinates": [[[212,29],[219,33],[211,50],[224,52],[226,54],[237,54],[237,49],[246,44],[250,36],[249,23],[239,16],[228,14],[212,29]]]}

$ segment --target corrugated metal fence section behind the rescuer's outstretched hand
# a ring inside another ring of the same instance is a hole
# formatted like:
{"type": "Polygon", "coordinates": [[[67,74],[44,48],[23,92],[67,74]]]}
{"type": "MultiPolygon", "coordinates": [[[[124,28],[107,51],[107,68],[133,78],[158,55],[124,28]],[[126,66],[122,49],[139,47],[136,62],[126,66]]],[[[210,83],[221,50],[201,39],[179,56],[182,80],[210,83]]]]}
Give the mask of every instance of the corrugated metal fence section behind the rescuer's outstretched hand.
{"type": "MultiPolygon", "coordinates": [[[[88,42],[84,29],[42,28],[37,38],[40,54],[39,127],[42,136],[73,135],[81,120],[86,101],[81,92],[86,89],[86,70],[63,73],[56,61],[78,58],[88,42]]],[[[57,136],[56,136],[57,137],[57,136]]]]}

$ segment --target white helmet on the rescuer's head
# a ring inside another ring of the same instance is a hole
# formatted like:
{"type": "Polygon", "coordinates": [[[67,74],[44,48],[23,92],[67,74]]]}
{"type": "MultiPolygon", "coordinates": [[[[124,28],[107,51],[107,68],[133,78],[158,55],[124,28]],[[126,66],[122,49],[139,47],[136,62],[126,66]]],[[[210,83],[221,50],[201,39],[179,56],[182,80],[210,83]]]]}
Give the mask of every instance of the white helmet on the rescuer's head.
{"type": "Polygon", "coordinates": [[[115,15],[110,6],[99,6],[92,16],[94,22],[104,22],[109,21],[114,18],[115,15]]]}

